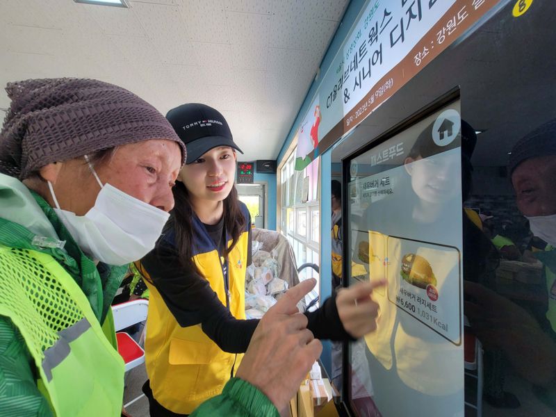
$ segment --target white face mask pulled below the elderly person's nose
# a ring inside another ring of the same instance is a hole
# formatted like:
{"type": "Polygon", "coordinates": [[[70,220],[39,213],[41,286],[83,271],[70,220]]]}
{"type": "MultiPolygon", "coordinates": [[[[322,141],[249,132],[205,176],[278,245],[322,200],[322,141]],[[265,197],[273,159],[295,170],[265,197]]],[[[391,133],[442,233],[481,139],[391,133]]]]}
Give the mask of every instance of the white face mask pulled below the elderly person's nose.
{"type": "MultiPolygon", "coordinates": [[[[85,161],[89,162],[87,156],[85,161]]],[[[101,187],[95,206],[85,215],[62,210],[48,181],[54,211],[81,250],[93,259],[109,265],[141,259],[154,248],[170,214],[108,183],[103,186],[90,163],[89,167],[101,187]]]]}

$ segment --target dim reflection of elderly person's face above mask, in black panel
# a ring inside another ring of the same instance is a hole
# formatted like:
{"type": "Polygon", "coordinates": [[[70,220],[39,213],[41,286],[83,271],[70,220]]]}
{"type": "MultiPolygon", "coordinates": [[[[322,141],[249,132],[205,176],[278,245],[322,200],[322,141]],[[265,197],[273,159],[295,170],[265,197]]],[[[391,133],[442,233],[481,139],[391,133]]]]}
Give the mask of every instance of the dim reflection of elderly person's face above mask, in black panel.
{"type": "Polygon", "coordinates": [[[556,155],[530,158],[512,173],[519,211],[527,216],[556,214],[556,155]]]}

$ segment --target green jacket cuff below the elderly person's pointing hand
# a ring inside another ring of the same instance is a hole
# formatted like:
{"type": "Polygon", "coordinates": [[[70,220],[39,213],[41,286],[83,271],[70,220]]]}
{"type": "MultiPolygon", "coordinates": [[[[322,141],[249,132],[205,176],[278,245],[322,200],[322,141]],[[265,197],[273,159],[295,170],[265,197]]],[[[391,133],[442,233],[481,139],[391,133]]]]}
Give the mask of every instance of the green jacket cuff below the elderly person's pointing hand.
{"type": "Polygon", "coordinates": [[[222,394],[203,402],[191,417],[279,417],[278,410],[259,389],[243,379],[232,378],[222,394]]]}

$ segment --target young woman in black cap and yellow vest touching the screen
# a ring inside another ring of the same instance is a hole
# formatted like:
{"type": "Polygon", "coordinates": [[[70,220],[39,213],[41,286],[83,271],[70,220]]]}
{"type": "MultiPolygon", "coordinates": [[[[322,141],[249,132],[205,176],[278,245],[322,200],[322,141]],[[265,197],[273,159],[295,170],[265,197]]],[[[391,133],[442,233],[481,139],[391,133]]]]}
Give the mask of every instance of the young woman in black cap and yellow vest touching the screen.
{"type": "MultiPolygon", "coordinates": [[[[251,219],[234,188],[241,151],[211,107],[184,104],[166,117],[188,156],[169,227],[138,264],[150,288],[143,391],[152,416],[190,414],[220,393],[259,324],[245,320],[251,219]]],[[[362,336],[375,328],[371,291],[370,284],[341,291],[303,320],[316,338],[362,336]]]]}

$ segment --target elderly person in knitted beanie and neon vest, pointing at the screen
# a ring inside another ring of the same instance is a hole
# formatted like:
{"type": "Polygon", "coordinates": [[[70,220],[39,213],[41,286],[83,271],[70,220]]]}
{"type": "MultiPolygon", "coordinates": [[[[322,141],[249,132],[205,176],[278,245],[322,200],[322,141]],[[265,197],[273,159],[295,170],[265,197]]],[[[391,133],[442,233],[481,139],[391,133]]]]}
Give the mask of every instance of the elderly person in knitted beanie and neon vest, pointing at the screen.
{"type": "MultiPolygon", "coordinates": [[[[115,85],[44,79],[6,90],[0,415],[118,416],[124,364],[111,300],[126,264],[161,234],[186,149],[158,111],[115,85]]],[[[275,415],[285,407],[320,354],[293,314],[313,284],[294,288],[270,313],[239,378],[197,415],[275,415]],[[264,363],[271,365],[261,370],[264,363]]]]}

